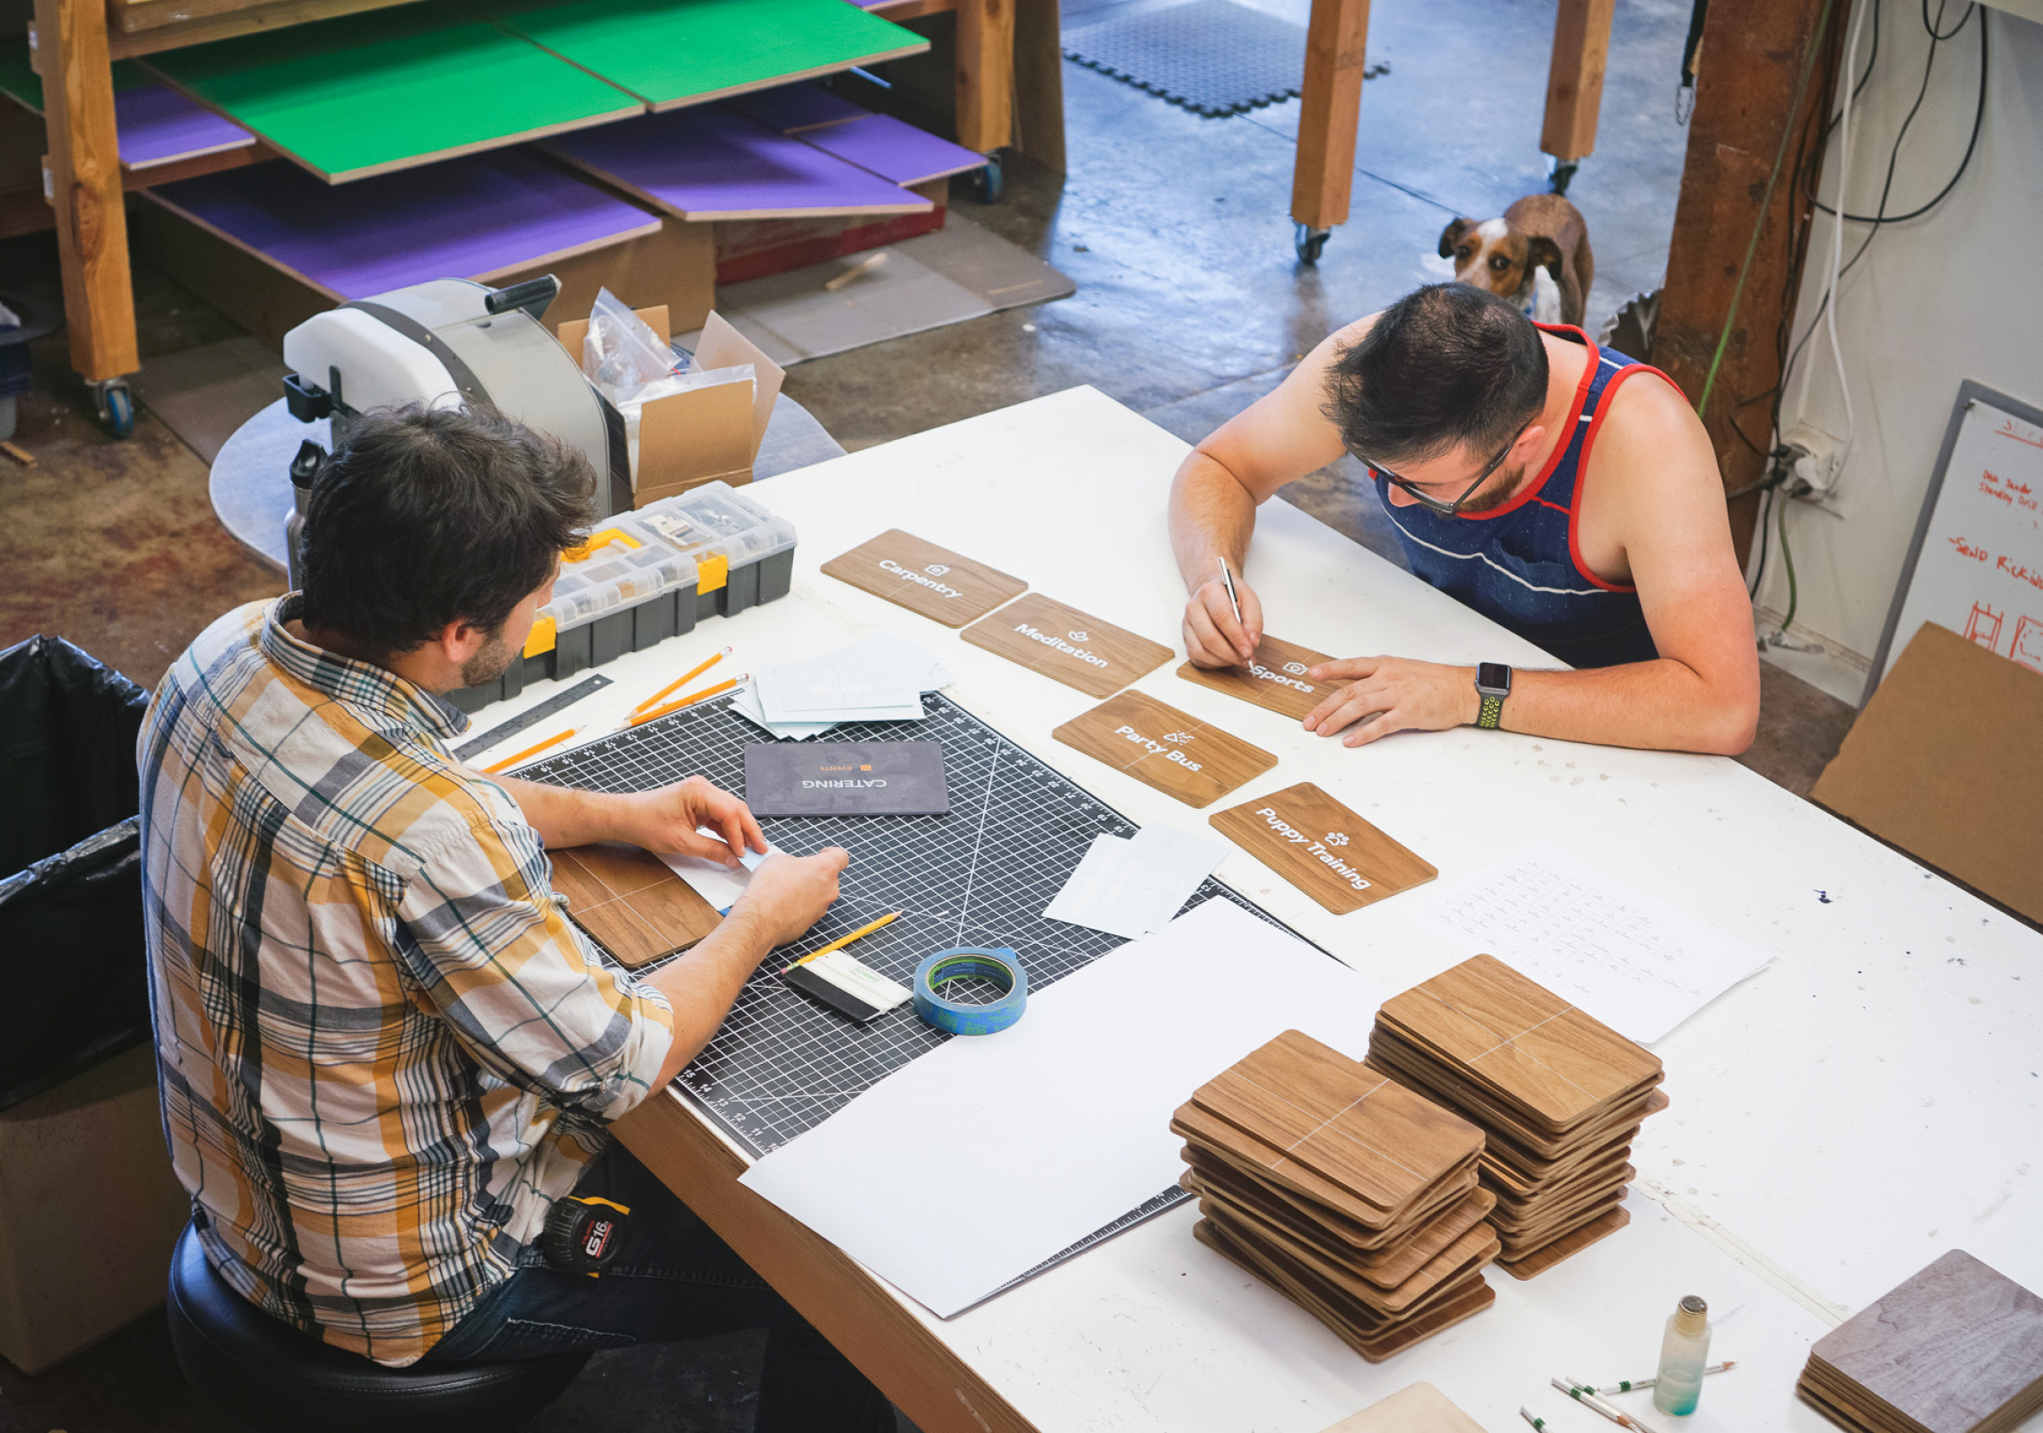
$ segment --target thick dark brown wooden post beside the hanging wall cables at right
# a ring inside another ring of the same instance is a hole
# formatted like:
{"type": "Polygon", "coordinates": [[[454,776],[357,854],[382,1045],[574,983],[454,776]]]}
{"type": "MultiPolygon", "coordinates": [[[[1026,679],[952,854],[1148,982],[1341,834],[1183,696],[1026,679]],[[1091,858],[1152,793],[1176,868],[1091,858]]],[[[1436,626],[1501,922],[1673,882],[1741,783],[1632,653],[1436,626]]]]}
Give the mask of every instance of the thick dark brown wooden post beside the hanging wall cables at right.
{"type": "MultiPolygon", "coordinates": [[[[1696,112],[1688,122],[1688,163],[1681,169],[1681,198],[1667,251],[1667,288],[1661,292],[1653,333],[1653,363],[1681,384],[1690,402],[1702,400],[1781,139],[1826,102],[1835,67],[1828,45],[1814,61],[1800,112],[1790,112],[1810,47],[1839,35],[1847,20],[1845,0],[1831,0],[1831,29],[1826,37],[1818,37],[1816,20],[1826,0],[1710,0],[1696,112]]],[[[1702,412],[1726,492],[1751,486],[1765,472],[1765,459],[1745,447],[1730,425],[1735,416],[1743,418],[1753,443],[1761,449],[1767,445],[1765,404],[1755,402],[1743,412],[1739,404],[1779,382],[1773,335],[1781,304],[1800,282],[1790,263],[1788,235],[1794,225],[1808,223],[1810,214],[1792,167],[1790,141],[1759,245],[1751,249],[1751,271],[1737,298],[1737,318],[1710,404],[1702,412]]],[[[1757,516],[1757,494],[1732,500],[1730,535],[1739,561],[1745,561],[1751,547],[1757,516]]]]}

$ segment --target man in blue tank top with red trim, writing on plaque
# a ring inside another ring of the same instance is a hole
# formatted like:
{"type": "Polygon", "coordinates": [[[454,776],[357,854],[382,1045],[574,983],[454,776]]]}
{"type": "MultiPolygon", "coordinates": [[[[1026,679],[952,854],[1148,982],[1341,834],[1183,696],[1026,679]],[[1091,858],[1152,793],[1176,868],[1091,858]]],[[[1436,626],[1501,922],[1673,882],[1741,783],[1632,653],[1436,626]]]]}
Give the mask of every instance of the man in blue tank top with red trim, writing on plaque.
{"type": "Polygon", "coordinates": [[[1242,559],[1256,504],[1344,451],[1369,467],[1414,574],[1573,670],[1328,661],[1308,676],[1344,686],[1308,731],[1350,747],[1465,725],[1724,755],[1751,745],[1751,602],[1681,390],[1461,284],[1334,333],[1179,467],[1171,541],[1193,663],[1250,661],[1263,604],[1242,559]]]}

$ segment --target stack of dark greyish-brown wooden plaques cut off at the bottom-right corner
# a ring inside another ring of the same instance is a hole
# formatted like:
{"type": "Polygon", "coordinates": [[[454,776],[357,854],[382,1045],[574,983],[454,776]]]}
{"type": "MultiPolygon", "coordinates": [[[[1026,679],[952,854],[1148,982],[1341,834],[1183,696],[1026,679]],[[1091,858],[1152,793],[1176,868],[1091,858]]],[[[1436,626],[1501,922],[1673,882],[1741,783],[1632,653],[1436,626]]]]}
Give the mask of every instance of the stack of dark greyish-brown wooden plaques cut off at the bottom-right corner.
{"type": "Polygon", "coordinates": [[[2043,1409],[2043,1298],[1951,1249],[1816,1339],[1796,1392],[1857,1433],[2006,1433],[2043,1409]]]}

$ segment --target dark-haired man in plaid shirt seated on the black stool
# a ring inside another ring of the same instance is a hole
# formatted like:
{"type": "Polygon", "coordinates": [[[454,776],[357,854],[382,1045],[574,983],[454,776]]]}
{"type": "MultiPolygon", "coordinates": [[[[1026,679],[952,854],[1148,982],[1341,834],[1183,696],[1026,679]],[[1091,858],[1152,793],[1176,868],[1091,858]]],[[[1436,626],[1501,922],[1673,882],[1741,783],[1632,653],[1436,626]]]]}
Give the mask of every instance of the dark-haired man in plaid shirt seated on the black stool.
{"type": "Polygon", "coordinates": [[[368,414],[313,488],[304,590],[229,612],[163,678],[137,755],[172,1162],[229,1284],[378,1364],[768,1327],[760,1429],[891,1427],[605,1135],[836,900],[846,853],[762,863],[709,939],[633,978],[568,923],[545,849],[735,863],[766,849],[744,802],[703,778],[478,776],[447,751],[468,721],[437,694],[517,659],[592,486],[488,410],[368,414]],[[631,1208],[601,1280],[539,1251],[570,1192],[631,1208]]]}

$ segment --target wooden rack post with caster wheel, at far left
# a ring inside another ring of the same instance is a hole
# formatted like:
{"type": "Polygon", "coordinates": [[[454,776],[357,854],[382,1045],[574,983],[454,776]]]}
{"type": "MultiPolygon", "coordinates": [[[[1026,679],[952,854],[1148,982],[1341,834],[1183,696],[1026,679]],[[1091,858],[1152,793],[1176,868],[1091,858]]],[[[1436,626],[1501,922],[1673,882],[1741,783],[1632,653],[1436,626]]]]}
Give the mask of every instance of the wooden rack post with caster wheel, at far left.
{"type": "Polygon", "coordinates": [[[141,355],[104,0],[35,0],[35,39],[72,367],[94,382],[121,378],[141,355]]]}

